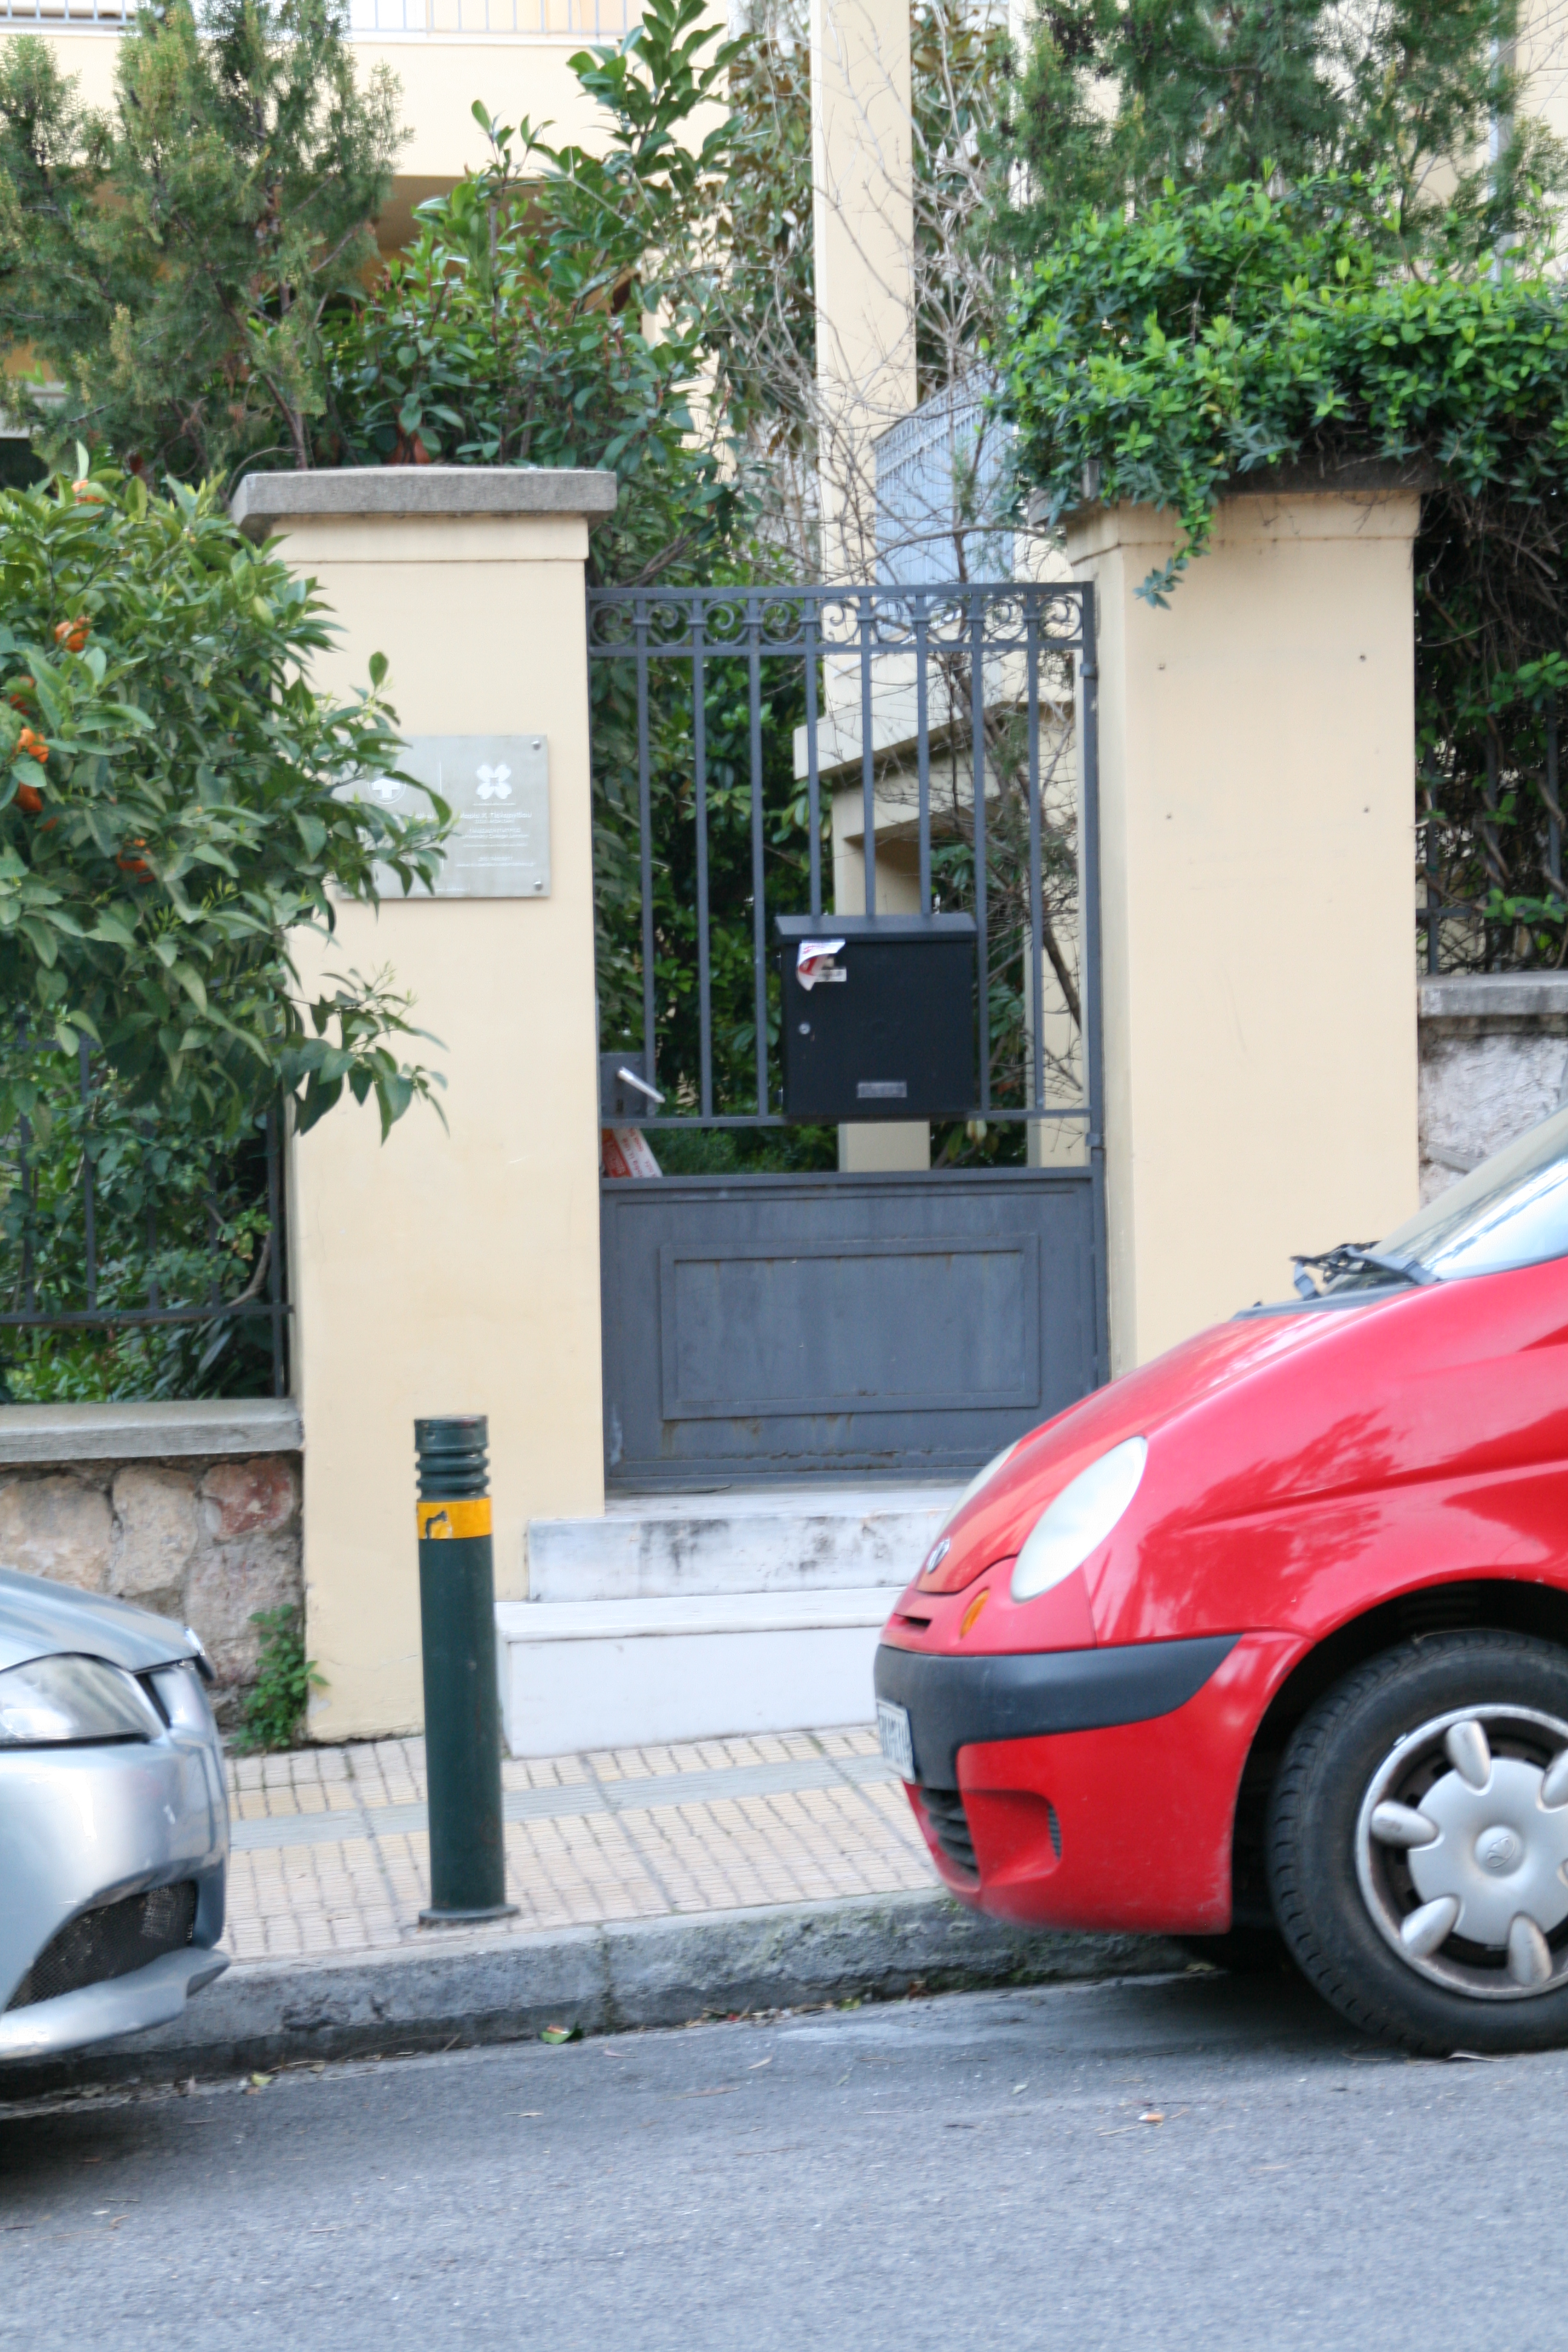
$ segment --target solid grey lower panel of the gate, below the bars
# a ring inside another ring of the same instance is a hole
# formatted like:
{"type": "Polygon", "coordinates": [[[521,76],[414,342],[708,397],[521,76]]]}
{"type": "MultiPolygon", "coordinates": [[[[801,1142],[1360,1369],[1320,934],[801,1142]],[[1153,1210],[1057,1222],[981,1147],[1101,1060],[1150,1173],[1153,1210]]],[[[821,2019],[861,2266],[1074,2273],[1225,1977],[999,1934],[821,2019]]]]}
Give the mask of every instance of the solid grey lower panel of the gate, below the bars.
{"type": "Polygon", "coordinates": [[[961,1472],[1095,1385],[1088,1171],[602,1195],[616,1486],[961,1472]]]}

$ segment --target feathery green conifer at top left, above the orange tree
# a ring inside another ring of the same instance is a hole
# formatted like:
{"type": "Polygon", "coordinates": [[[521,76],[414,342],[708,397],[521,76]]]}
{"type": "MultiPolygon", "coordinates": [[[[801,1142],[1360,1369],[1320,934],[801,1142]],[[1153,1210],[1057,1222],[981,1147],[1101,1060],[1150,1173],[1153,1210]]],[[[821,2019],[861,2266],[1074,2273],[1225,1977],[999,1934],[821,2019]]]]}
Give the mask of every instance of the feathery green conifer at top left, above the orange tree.
{"type": "Polygon", "coordinates": [[[402,143],[341,0],[190,0],[125,33],[94,115],[0,52],[0,346],[63,386],[45,442],[188,480],[310,463],[322,320],[362,296],[402,143]]]}

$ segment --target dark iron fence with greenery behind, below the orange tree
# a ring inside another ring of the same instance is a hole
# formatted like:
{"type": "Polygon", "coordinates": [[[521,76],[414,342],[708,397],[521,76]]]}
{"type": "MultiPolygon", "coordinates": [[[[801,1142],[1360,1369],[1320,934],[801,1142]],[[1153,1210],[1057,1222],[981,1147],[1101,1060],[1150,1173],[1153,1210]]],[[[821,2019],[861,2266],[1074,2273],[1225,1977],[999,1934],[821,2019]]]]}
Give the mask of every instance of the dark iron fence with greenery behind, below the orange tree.
{"type": "MultiPolygon", "coordinates": [[[[26,1044],[21,1047],[26,1054],[26,1044]]],[[[66,1065],[61,1056],[33,1056],[66,1065]]],[[[45,1089],[35,1089],[40,1103],[45,1089]]],[[[214,1362],[237,1329],[252,1331],[268,1364],[270,1392],[289,1392],[289,1284],[284,1249],[282,1120],[268,1110],[249,1160],[219,1200],[216,1185],[190,1185],[148,1117],[120,1117],[110,1141],[101,1108],[108,1089],[87,1044],[75,1084],[56,1084],[63,1117],[21,1115],[0,1138],[0,1331],[110,1334],[193,1327],[214,1362]],[[71,1103],[71,1096],[75,1098],[71,1103]],[[134,1183],[125,1183],[134,1160],[134,1183]],[[108,1164],[113,1162],[113,1174],[108,1164]],[[127,1209],[127,1195],[134,1207],[127,1209]],[[240,1216],[235,1218],[235,1202],[240,1216]],[[242,1268],[233,1228],[242,1225],[254,1263],[242,1268]],[[230,1247],[223,1244],[226,1225],[230,1247]],[[176,1230],[179,1228],[179,1230],[176,1230]]],[[[14,1367],[7,1364],[7,1371],[14,1367]]]]}

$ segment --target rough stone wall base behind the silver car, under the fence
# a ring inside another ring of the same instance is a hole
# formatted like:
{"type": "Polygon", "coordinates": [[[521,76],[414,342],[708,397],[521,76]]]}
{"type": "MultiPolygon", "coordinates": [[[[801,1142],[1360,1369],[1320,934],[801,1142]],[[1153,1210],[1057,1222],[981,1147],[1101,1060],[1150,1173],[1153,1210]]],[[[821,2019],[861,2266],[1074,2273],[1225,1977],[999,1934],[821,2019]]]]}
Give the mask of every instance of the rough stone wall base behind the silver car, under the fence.
{"type": "Polygon", "coordinates": [[[230,1726],[256,1672],[252,1613],[303,1597],[299,1496],[299,1454],[7,1465],[0,1564],[193,1625],[230,1726]]]}

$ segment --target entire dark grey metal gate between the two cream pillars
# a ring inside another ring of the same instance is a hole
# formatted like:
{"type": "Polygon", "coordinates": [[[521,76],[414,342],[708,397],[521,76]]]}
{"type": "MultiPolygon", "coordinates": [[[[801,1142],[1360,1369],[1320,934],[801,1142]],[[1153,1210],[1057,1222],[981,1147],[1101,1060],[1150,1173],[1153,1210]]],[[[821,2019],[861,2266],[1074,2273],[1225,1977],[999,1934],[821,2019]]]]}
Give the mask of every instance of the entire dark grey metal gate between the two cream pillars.
{"type": "Polygon", "coordinates": [[[964,1472],[1107,1378],[1091,597],[590,593],[604,1115],[663,1169],[602,1185],[614,1486],[964,1472]],[[835,913],[973,917],[961,1117],[785,1120],[769,931],[835,913]]]}

